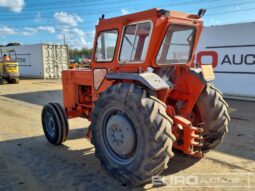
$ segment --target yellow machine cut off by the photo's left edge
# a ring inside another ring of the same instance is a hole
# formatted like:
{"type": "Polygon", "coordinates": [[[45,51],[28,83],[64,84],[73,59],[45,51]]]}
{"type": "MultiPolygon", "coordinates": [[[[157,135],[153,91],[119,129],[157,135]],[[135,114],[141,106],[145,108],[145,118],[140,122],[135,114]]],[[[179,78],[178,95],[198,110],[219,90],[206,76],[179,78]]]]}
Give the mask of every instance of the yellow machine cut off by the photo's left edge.
{"type": "Polygon", "coordinates": [[[0,50],[0,84],[19,83],[19,66],[15,50],[0,50]]]}

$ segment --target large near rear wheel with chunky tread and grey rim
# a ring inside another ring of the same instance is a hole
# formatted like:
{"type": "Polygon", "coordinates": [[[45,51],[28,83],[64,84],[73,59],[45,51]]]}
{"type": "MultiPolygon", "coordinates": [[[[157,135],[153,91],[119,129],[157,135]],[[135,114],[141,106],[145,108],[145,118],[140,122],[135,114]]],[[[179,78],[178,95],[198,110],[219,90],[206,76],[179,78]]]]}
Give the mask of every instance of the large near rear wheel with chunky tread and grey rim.
{"type": "Polygon", "coordinates": [[[144,184],[173,157],[172,124],[165,104],[143,88],[114,85],[100,95],[92,113],[95,154],[122,183],[144,184]]]}

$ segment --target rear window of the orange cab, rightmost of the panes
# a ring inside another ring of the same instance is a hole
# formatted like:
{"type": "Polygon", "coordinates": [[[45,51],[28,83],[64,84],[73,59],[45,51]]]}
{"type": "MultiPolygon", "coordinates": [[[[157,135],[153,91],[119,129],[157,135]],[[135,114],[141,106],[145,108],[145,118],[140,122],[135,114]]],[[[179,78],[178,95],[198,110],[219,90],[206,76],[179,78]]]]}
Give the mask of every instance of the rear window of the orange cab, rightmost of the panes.
{"type": "Polygon", "coordinates": [[[157,55],[157,64],[186,64],[192,55],[195,27],[170,25],[157,55]]]}

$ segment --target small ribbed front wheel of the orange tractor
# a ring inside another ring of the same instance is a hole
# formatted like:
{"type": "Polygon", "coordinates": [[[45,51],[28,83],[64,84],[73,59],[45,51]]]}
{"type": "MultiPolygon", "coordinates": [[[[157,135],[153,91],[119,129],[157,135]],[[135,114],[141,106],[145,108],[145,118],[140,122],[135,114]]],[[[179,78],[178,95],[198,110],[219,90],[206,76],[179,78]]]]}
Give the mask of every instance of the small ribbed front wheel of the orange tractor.
{"type": "Polygon", "coordinates": [[[42,126],[46,139],[60,145],[67,139],[68,121],[64,109],[58,103],[49,103],[42,110],[42,126]]]}

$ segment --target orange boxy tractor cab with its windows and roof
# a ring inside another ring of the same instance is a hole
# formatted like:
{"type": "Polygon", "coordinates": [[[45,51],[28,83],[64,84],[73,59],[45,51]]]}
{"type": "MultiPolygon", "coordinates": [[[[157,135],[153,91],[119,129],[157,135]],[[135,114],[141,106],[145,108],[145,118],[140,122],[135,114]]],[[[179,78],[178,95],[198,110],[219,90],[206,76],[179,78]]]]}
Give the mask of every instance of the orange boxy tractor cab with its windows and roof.
{"type": "Polygon", "coordinates": [[[163,9],[101,18],[92,68],[138,72],[148,67],[191,65],[203,22],[201,15],[163,9]]]}

